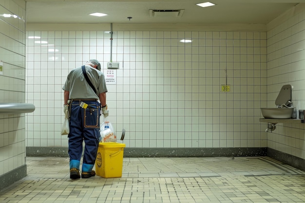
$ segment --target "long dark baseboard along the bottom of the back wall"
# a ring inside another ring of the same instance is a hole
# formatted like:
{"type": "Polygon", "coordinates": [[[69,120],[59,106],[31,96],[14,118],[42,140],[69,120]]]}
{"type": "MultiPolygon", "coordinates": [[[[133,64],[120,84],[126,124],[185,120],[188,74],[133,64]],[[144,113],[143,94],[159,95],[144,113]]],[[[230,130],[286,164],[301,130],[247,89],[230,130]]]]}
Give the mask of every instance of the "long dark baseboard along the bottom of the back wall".
{"type": "MultiPolygon", "coordinates": [[[[68,148],[26,147],[26,156],[69,157],[68,148]]],[[[124,148],[124,157],[267,156],[267,148],[124,148]]]]}

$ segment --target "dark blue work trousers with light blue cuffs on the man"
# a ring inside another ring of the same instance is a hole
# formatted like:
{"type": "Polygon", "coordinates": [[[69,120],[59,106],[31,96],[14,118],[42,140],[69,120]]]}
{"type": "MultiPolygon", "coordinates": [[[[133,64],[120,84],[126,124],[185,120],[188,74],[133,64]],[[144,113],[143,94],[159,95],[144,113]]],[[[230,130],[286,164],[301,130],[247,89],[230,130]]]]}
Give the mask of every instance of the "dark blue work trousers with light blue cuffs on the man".
{"type": "Polygon", "coordinates": [[[77,99],[70,103],[70,133],[69,156],[70,169],[79,169],[80,159],[85,150],[82,164],[82,172],[91,172],[96,159],[99,143],[99,118],[100,103],[96,100],[77,99]],[[81,102],[88,104],[87,108],[80,107],[81,102]]]}

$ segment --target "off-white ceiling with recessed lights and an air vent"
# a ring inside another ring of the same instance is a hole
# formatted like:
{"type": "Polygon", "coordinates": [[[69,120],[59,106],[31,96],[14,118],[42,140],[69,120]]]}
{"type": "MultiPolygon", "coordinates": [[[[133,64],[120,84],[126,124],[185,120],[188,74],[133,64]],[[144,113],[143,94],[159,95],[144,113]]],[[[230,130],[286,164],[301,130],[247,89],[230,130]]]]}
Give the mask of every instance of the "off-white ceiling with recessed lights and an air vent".
{"type": "Polygon", "coordinates": [[[305,0],[26,0],[27,23],[249,23],[267,24],[305,0]],[[150,9],[184,9],[181,18],[151,18],[150,9]],[[89,16],[101,12],[105,17],[89,16]],[[131,20],[128,17],[132,17],[131,20]]]}

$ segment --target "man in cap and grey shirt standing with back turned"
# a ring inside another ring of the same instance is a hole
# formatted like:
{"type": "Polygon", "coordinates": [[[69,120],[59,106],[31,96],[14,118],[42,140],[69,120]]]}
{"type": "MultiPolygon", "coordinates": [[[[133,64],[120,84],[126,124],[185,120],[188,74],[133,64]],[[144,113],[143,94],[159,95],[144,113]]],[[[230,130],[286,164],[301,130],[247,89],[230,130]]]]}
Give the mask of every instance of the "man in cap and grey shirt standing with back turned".
{"type": "Polygon", "coordinates": [[[98,60],[90,59],[84,66],[72,70],[62,89],[64,112],[70,115],[69,156],[70,178],[80,178],[79,166],[85,142],[81,178],[95,176],[92,170],[99,143],[100,111],[104,117],[109,111],[106,105],[106,81],[100,72],[98,60]],[[99,100],[99,101],[98,101],[99,100]]]}

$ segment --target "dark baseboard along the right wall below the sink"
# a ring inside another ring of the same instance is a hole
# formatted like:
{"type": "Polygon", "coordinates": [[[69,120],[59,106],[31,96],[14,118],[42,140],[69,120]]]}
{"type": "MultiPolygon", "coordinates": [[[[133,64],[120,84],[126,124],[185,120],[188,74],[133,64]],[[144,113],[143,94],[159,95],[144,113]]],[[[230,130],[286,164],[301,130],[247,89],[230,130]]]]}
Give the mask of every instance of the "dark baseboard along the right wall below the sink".
{"type": "Polygon", "coordinates": [[[286,154],[272,148],[268,148],[267,156],[305,171],[305,159],[286,154]]]}

